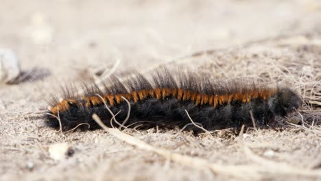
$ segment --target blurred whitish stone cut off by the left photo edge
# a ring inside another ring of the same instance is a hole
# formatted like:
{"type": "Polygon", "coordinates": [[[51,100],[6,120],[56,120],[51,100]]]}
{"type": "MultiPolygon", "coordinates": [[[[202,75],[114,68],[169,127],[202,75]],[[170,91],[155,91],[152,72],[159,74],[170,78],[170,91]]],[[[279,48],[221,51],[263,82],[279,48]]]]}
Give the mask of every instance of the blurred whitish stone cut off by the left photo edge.
{"type": "Polygon", "coordinates": [[[0,49],[0,82],[13,82],[19,75],[19,58],[14,51],[11,49],[0,49]]]}

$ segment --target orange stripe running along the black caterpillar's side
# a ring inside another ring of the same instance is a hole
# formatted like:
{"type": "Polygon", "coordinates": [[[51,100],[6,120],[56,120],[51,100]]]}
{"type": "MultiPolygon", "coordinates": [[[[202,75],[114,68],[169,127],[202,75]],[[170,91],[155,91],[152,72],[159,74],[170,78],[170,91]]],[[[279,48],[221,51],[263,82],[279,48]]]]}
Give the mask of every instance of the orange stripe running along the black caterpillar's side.
{"type": "MultiPolygon", "coordinates": [[[[125,97],[128,101],[137,102],[147,98],[164,99],[165,97],[172,96],[182,101],[193,101],[196,105],[209,104],[210,106],[216,107],[222,104],[230,104],[231,101],[242,101],[243,103],[250,102],[251,99],[267,99],[275,93],[272,90],[264,90],[262,92],[249,92],[249,93],[235,93],[228,95],[204,95],[201,93],[195,93],[190,90],[174,89],[174,88],[155,88],[151,90],[133,91],[132,93],[117,94],[117,95],[103,95],[104,99],[110,106],[115,104],[121,104],[124,100],[121,97],[125,97]]],[[[96,106],[103,104],[102,99],[98,96],[84,97],[86,104],[85,107],[96,106]]],[[[62,99],[60,102],[51,108],[52,112],[64,112],[69,109],[69,104],[77,104],[77,99],[62,99]]]]}

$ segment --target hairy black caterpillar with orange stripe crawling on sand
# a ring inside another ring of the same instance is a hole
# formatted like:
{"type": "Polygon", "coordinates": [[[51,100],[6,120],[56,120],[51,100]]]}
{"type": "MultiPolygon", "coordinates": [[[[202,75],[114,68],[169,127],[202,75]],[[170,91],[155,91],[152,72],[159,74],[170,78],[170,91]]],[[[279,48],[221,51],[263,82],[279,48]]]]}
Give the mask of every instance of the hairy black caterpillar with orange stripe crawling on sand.
{"type": "Polygon", "coordinates": [[[82,129],[95,130],[99,128],[92,119],[95,113],[111,127],[108,106],[126,127],[139,124],[141,129],[178,127],[199,132],[189,117],[206,130],[251,127],[253,119],[262,126],[277,116],[296,112],[301,104],[298,95],[287,87],[209,77],[163,69],[149,77],[134,73],[125,82],[111,76],[103,82],[103,88],[84,84],[83,95],[75,94],[75,88],[64,88],[62,99],[53,96],[49,101],[46,124],[67,131],[83,123],[82,129]],[[128,113],[130,118],[125,123],[128,113]]]}

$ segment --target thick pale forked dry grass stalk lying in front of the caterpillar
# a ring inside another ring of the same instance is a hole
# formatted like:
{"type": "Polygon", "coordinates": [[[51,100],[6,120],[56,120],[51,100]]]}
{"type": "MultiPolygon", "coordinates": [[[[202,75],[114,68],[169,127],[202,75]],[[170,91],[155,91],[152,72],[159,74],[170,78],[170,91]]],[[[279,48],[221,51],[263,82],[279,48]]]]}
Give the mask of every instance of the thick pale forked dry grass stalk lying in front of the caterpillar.
{"type": "Polygon", "coordinates": [[[130,145],[134,145],[139,149],[143,149],[147,152],[154,152],[160,156],[167,158],[169,161],[172,160],[182,165],[193,167],[194,169],[211,169],[211,171],[213,171],[213,173],[215,174],[223,174],[241,180],[261,180],[264,175],[270,174],[285,176],[307,176],[312,178],[321,177],[321,172],[319,170],[296,168],[288,165],[285,162],[274,162],[265,158],[261,158],[260,156],[255,155],[249,147],[243,144],[242,145],[244,147],[245,154],[255,163],[257,163],[257,165],[222,165],[210,163],[207,160],[201,158],[193,158],[191,156],[173,153],[168,149],[154,147],[115,128],[108,128],[106,125],[104,125],[104,123],[102,123],[97,114],[93,114],[93,119],[106,132],[108,132],[112,136],[115,136],[120,141],[124,141],[130,145]]]}

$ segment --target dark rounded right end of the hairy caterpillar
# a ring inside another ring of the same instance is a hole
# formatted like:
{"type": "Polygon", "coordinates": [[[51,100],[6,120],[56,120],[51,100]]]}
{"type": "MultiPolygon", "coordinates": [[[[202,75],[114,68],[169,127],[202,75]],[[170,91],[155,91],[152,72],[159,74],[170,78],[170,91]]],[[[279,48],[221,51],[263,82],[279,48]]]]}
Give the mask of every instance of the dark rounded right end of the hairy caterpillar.
{"type": "Polygon", "coordinates": [[[294,91],[289,88],[280,88],[272,98],[272,110],[275,114],[280,116],[287,116],[287,114],[296,112],[300,107],[302,101],[294,91]]]}

